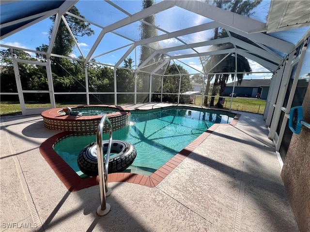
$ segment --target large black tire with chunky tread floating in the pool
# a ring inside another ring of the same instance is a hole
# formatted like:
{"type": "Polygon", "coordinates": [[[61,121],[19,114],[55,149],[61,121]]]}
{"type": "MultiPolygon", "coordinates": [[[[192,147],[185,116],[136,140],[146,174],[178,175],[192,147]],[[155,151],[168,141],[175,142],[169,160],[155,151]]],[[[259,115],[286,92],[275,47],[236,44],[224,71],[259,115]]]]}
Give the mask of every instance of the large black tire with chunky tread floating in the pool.
{"type": "MultiPolygon", "coordinates": [[[[103,151],[107,152],[109,140],[102,141],[103,151]]],[[[98,175],[96,143],[84,147],[78,155],[78,167],[86,175],[98,175]],[[95,153],[95,155],[94,155],[95,153]]],[[[134,145],[121,140],[112,140],[111,153],[118,153],[109,159],[108,173],[122,172],[136,159],[137,150],[134,145]]],[[[106,158],[104,158],[106,163],[106,158]]]]}

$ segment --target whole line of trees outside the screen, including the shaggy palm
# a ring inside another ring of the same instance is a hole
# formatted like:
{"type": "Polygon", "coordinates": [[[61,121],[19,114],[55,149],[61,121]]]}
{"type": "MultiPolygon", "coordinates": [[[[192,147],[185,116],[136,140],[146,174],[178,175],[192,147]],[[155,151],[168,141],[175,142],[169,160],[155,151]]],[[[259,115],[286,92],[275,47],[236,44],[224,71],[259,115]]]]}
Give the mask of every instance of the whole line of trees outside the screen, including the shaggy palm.
{"type": "MultiPolygon", "coordinates": [[[[216,5],[219,8],[223,8],[229,11],[232,11],[237,14],[243,14],[249,16],[252,10],[261,2],[258,1],[241,1],[241,0],[211,0],[208,1],[209,4],[216,5]]],[[[142,9],[148,8],[155,4],[154,0],[143,0],[142,1],[142,9]]],[[[83,17],[78,11],[76,7],[72,7],[69,12],[72,14],[78,15],[79,17],[83,17]]],[[[94,33],[91,29],[90,24],[84,21],[81,21],[71,15],[64,15],[66,21],[68,22],[75,39],[77,41],[81,36],[90,36],[94,33]]],[[[55,16],[50,17],[50,19],[54,22],[55,16]]],[[[148,16],[143,19],[146,23],[151,23],[155,25],[155,15],[148,16]]],[[[49,39],[51,39],[52,28],[49,29],[49,39]]],[[[143,22],[140,25],[140,39],[146,39],[153,36],[157,36],[157,30],[155,28],[147,26],[143,22]]],[[[212,39],[218,39],[227,37],[228,33],[225,29],[216,28],[214,29],[214,37],[212,39]]],[[[238,35],[231,32],[231,36],[238,38],[238,35]]],[[[240,36],[239,36],[240,37],[240,36]]],[[[243,38],[244,40],[245,38],[243,38]]],[[[249,42],[249,41],[247,41],[249,42]]],[[[71,34],[67,30],[64,22],[61,20],[59,29],[55,38],[55,43],[53,44],[52,53],[59,54],[63,56],[70,56],[73,52],[75,46],[75,41],[71,37],[71,34]]],[[[159,44],[157,44],[159,48],[159,44]]],[[[229,43],[225,44],[217,44],[217,50],[232,48],[233,45],[229,43]]],[[[156,47],[156,44],[155,44],[156,47]]],[[[42,44],[37,47],[37,51],[47,52],[48,45],[42,44]]],[[[139,65],[144,62],[152,53],[152,50],[149,47],[142,46],[140,50],[140,60],[139,65]]],[[[1,50],[0,51],[0,62],[2,64],[6,64],[5,67],[1,70],[1,78],[0,78],[0,90],[1,92],[17,92],[16,82],[15,82],[15,74],[14,68],[12,65],[12,57],[11,51],[1,50]]],[[[36,57],[31,57],[28,53],[23,51],[14,50],[14,56],[16,58],[24,59],[24,60],[39,60],[46,61],[46,56],[40,53],[36,54],[36,57]]],[[[225,60],[223,60],[220,65],[215,66],[220,60],[222,60],[225,55],[217,55],[211,57],[202,57],[202,61],[204,64],[204,70],[209,73],[234,73],[235,72],[235,54],[231,54],[225,60]]],[[[82,58],[82,57],[80,57],[82,58]]],[[[151,59],[147,67],[149,70],[153,71],[156,68],[157,62],[163,60],[165,57],[163,55],[156,55],[153,59],[151,59]]],[[[92,60],[95,61],[95,60],[92,60]]],[[[251,69],[248,64],[248,60],[242,56],[237,56],[237,71],[238,72],[251,72],[251,69]]],[[[85,83],[85,71],[84,64],[77,60],[59,58],[59,57],[51,57],[51,70],[52,70],[52,79],[53,79],[53,87],[55,92],[85,92],[86,83],[85,83]]],[[[117,92],[122,93],[132,93],[135,90],[135,73],[132,70],[133,65],[132,58],[126,58],[124,60],[123,68],[118,68],[116,70],[116,86],[117,92]]],[[[88,63],[86,65],[88,72],[88,87],[89,91],[96,92],[114,92],[114,70],[109,66],[100,66],[94,63],[88,63]]],[[[25,64],[18,63],[18,69],[20,73],[20,79],[22,83],[22,88],[24,90],[47,90],[48,82],[47,82],[47,74],[46,67],[41,65],[33,65],[33,64],[25,64]]],[[[195,81],[198,84],[202,84],[206,81],[205,95],[208,95],[210,89],[210,82],[214,82],[212,88],[212,95],[215,95],[217,91],[219,91],[219,95],[222,96],[224,89],[226,87],[226,83],[230,77],[234,77],[234,74],[207,74],[205,76],[196,75],[191,78],[188,72],[181,66],[175,64],[168,64],[165,69],[165,76],[163,79],[163,93],[178,93],[179,92],[179,76],[169,76],[172,74],[179,74],[179,71],[182,74],[182,82],[180,92],[184,93],[186,91],[191,91],[193,89],[191,85],[191,81],[195,81]],[[179,70],[179,71],[178,71],[179,70]],[[167,75],[167,76],[166,76],[167,75]]],[[[162,70],[164,71],[164,70],[162,70]]],[[[243,79],[243,74],[237,75],[238,83],[241,83],[243,79]]],[[[149,92],[149,83],[150,77],[145,76],[144,74],[138,73],[137,77],[137,92],[149,92]]],[[[153,78],[152,81],[152,92],[161,92],[161,79],[153,78]]],[[[4,96],[4,95],[3,95],[4,96]]],[[[94,99],[98,101],[98,103],[105,103],[104,99],[100,98],[100,94],[93,94],[94,99]]],[[[7,97],[10,97],[7,96],[7,97]]],[[[12,97],[12,95],[11,95],[12,97]]],[[[43,100],[47,98],[47,94],[33,94],[33,100],[43,100]]],[[[133,102],[132,94],[122,94],[120,95],[120,101],[118,102],[133,102]]],[[[3,99],[3,98],[2,98],[3,99]]],[[[106,101],[113,102],[114,96],[105,95],[106,101]],[[108,98],[108,99],[107,99],[108,98]],[[110,98],[110,99],[109,99],[110,98]]],[[[72,100],[70,95],[62,95],[63,101],[72,100]]],[[[176,95],[164,94],[164,101],[167,102],[176,102],[176,95]]],[[[211,106],[214,106],[214,98],[209,99],[211,102],[211,106]]],[[[78,95],[75,97],[75,101],[85,101],[85,96],[78,95]]],[[[142,102],[148,102],[148,97],[145,95],[145,99],[141,100],[142,102]]],[[[158,96],[154,95],[151,101],[158,101],[158,96]]],[[[184,102],[184,99],[181,99],[181,102],[184,102]]],[[[208,104],[208,98],[204,99],[204,104],[208,104]]],[[[222,107],[220,100],[216,104],[217,107],[222,107]]]]}

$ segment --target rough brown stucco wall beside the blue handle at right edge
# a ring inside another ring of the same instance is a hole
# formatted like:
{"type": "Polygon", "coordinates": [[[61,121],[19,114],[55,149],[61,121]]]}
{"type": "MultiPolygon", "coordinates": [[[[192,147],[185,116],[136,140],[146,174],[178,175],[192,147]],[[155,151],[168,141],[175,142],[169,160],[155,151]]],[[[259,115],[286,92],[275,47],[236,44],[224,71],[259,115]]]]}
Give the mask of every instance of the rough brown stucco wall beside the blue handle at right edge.
{"type": "MultiPolygon", "coordinates": [[[[303,101],[304,120],[310,122],[310,84],[303,101]]],[[[293,134],[281,177],[300,232],[310,232],[310,130],[293,134]]]]}

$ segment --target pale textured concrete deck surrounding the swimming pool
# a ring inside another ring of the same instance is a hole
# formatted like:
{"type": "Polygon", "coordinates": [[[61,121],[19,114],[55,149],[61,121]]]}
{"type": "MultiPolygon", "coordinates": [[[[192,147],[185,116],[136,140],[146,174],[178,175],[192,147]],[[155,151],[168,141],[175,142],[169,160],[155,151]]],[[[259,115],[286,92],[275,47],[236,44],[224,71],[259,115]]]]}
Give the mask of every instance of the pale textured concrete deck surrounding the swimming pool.
{"type": "Polygon", "coordinates": [[[61,131],[41,116],[1,117],[1,231],[298,231],[263,116],[237,113],[236,125],[219,125],[156,187],[109,183],[104,217],[99,186],[70,192],[41,156],[61,131]]]}

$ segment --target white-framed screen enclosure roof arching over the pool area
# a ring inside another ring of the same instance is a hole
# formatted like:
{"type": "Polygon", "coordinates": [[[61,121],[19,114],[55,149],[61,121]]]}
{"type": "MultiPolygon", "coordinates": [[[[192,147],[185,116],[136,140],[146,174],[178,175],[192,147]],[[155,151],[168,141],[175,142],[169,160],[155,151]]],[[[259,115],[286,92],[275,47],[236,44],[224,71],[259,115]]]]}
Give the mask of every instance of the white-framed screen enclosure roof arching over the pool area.
{"type": "Polygon", "coordinates": [[[134,69],[149,73],[156,73],[169,62],[188,66],[193,73],[208,73],[202,58],[228,54],[243,56],[275,72],[310,34],[310,1],[305,0],[263,0],[249,16],[196,0],[157,0],[146,9],[136,0],[1,0],[0,13],[1,47],[9,47],[3,42],[21,31],[49,22],[47,58],[53,56],[61,21],[74,36],[64,17],[70,15],[94,31],[89,38],[78,38],[72,58],[117,68],[131,57],[135,59],[134,69]],[[83,17],[70,12],[74,6],[83,17]],[[49,19],[52,15],[56,15],[54,23],[49,19]],[[150,16],[153,21],[148,20],[150,16]],[[152,36],[142,38],[141,25],[152,31],[152,36]],[[215,39],[216,29],[226,34],[215,39]],[[149,55],[139,61],[144,48],[149,55]],[[154,66],[156,56],[161,60],[154,66]],[[148,69],[151,67],[153,70],[148,69]]]}

